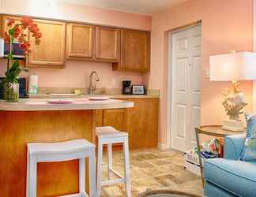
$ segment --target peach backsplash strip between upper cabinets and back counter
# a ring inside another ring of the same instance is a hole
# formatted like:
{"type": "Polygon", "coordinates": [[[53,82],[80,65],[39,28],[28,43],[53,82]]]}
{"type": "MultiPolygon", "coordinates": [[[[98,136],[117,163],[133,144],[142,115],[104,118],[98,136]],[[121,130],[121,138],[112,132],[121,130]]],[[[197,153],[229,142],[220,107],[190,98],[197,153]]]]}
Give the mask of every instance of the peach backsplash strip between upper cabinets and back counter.
{"type": "MultiPolygon", "coordinates": [[[[122,89],[122,80],[132,80],[133,84],[142,84],[142,74],[135,72],[113,71],[110,63],[96,63],[86,61],[67,61],[65,69],[31,68],[21,76],[29,74],[39,76],[39,87],[69,87],[85,88],[89,84],[90,72],[95,70],[100,76],[98,88],[122,89]]],[[[6,72],[6,60],[0,59],[0,76],[6,72]]]]}

